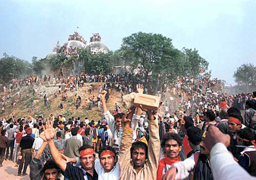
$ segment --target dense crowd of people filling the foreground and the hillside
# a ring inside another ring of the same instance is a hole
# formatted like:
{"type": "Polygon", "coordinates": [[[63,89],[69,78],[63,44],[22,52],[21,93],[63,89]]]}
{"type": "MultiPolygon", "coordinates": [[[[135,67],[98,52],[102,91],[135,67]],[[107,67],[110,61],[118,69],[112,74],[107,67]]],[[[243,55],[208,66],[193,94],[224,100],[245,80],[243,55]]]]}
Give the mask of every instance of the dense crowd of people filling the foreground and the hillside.
{"type": "MultiPolygon", "coordinates": [[[[37,79],[42,77],[22,82],[28,85],[37,79]]],[[[183,77],[158,88],[158,109],[141,105],[122,113],[117,104],[111,111],[107,108],[111,89],[121,96],[153,92],[138,85],[143,83],[142,74],[43,80],[60,84],[63,101],[67,91],[76,92],[85,82],[104,82],[99,96],[88,101],[90,110],[99,102],[102,116],[97,121],[61,114],[1,119],[0,166],[4,159],[14,161],[18,176],[27,175],[30,164],[31,179],[255,179],[256,92],[228,95],[218,91],[217,79],[183,77]],[[175,94],[178,109],[170,106],[175,94]]],[[[75,94],[74,104],[80,100],[75,94]]]]}

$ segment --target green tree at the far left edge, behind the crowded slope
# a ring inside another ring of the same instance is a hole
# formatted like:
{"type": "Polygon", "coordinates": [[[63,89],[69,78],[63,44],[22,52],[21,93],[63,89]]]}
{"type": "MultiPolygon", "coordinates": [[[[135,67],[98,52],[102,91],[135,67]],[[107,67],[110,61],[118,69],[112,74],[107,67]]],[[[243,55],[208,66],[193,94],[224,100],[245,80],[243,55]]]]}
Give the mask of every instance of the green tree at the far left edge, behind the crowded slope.
{"type": "Polygon", "coordinates": [[[0,59],[0,82],[6,83],[13,78],[30,75],[31,71],[28,67],[31,67],[31,64],[28,61],[9,56],[6,53],[3,56],[0,59]]]}

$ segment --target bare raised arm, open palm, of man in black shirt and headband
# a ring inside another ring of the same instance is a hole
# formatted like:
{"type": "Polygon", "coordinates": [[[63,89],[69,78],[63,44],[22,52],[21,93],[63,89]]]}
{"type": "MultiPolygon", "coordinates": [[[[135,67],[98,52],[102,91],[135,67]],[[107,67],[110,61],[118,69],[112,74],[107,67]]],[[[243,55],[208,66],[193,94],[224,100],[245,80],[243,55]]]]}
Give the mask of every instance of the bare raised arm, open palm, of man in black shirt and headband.
{"type": "Polygon", "coordinates": [[[65,161],[61,158],[61,155],[60,155],[59,151],[57,150],[57,148],[54,144],[54,141],[53,141],[54,136],[57,132],[57,128],[53,129],[52,121],[47,121],[46,129],[44,128],[44,126],[43,126],[43,129],[44,129],[45,138],[47,139],[53,160],[60,167],[60,169],[65,172],[67,164],[65,164],[65,161]]]}

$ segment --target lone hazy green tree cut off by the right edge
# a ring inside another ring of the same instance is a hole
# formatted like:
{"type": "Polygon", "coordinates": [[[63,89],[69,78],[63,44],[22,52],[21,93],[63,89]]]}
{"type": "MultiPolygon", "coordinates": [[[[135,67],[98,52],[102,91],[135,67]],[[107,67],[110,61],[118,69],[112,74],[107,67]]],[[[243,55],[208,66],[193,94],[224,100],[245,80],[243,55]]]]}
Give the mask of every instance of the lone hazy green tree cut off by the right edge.
{"type": "Polygon", "coordinates": [[[249,85],[256,85],[256,66],[251,63],[242,64],[234,72],[233,77],[239,86],[246,86],[248,92],[249,85]]]}

